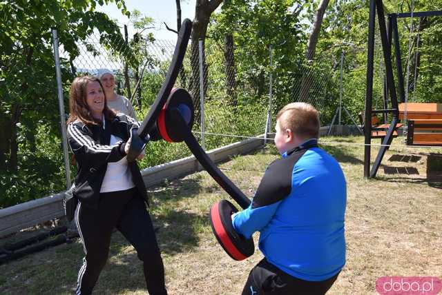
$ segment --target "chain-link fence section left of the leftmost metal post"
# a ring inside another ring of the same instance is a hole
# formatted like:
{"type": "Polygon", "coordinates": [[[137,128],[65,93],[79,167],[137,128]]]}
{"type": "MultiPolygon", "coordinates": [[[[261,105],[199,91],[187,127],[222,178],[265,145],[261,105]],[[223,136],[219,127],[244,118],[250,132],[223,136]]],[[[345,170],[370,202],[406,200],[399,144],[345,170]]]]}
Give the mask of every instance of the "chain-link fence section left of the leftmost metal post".
{"type": "Polygon", "coordinates": [[[12,48],[0,54],[0,208],[66,189],[52,47],[12,48]]]}

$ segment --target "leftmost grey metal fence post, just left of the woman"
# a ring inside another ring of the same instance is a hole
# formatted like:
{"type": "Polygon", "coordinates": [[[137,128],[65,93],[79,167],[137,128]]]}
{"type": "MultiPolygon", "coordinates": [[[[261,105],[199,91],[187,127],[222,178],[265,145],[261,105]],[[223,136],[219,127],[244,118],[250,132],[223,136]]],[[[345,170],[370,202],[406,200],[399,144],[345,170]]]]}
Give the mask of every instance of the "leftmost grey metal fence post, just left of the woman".
{"type": "Polygon", "coordinates": [[[64,114],[64,101],[63,101],[63,86],[61,85],[61,70],[60,70],[60,57],[58,48],[58,34],[56,29],[52,29],[52,42],[54,46],[54,60],[55,60],[55,76],[57,78],[57,90],[58,90],[58,106],[60,112],[60,125],[61,125],[61,143],[63,143],[64,153],[64,168],[66,170],[66,190],[70,188],[70,166],[68,160],[68,139],[66,136],[66,117],[64,114]]]}

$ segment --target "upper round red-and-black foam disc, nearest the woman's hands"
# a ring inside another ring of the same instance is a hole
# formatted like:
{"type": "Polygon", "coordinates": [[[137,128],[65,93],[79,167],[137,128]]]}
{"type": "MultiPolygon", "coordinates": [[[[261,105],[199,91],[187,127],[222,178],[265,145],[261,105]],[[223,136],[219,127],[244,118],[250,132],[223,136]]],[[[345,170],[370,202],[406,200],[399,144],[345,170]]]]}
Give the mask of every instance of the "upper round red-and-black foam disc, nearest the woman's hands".
{"type": "Polygon", "coordinates": [[[178,143],[184,141],[186,134],[183,134],[183,132],[180,132],[180,128],[177,128],[177,121],[173,119],[171,110],[178,110],[187,128],[192,130],[195,115],[193,114],[191,94],[182,88],[173,88],[157,119],[157,128],[160,136],[165,141],[178,143]]]}

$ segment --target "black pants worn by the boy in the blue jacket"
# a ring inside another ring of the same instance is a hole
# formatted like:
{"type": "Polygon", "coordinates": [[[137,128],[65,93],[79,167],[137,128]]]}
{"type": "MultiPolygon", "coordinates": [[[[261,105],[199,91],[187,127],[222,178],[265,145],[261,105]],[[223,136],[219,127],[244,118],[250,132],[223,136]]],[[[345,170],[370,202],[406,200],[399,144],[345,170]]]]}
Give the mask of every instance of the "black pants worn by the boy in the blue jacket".
{"type": "Polygon", "coordinates": [[[304,281],[282,272],[264,258],[251,269],[242,295],[323,295],[338,275],[326,281],[304,281]]]}

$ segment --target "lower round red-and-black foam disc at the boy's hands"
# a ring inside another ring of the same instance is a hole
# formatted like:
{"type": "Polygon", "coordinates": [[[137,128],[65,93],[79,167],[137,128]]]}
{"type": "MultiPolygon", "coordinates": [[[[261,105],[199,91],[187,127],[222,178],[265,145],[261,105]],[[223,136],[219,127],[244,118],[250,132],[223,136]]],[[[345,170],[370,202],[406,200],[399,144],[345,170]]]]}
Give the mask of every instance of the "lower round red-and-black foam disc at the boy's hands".
{"type": "Polygon", "coordinates": [[[233,229],[231,215],[238,212],[227,200],[215,203],[210,210],[210,223],[218,243],[231,258],[241,261],[253,255],[255,244],[253,238],[246,239],[233,229]]]}

